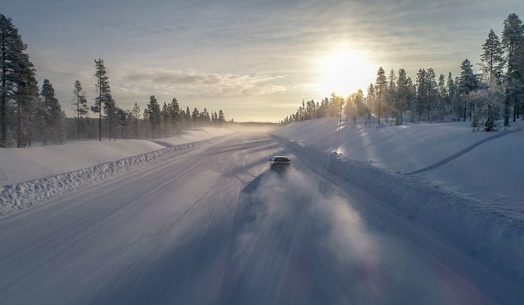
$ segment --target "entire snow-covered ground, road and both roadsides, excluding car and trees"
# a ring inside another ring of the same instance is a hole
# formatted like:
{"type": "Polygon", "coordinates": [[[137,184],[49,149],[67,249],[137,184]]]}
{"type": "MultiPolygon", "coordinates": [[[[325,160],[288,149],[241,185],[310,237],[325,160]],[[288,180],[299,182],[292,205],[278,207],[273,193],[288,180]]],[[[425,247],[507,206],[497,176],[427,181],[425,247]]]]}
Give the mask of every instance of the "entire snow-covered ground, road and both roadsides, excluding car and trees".
{"type": "Polygon", "coordinates": [[[0,187],[0,303],[518,303],[521,125],[324,118],[34,147],[50,176],[0,187]],[[113,160],[74,167],[96,153],[113,160]],[[274,155],[287,175],[267,171],[274,155]]]}

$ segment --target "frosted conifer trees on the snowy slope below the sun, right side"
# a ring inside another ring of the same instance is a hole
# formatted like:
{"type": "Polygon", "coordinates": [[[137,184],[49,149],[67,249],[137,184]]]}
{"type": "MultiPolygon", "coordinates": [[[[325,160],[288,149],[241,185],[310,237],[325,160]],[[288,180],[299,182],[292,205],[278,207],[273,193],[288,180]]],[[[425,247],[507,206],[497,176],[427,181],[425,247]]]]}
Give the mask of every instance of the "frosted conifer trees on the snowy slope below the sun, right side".
{"type": "Polygon", "coordinates": [[[325,116],[369,119],[372,114],[386,122],[442,122],[468,119],[474,129],[495,128],[495,121],[504,118],[504,126],[524,117],[524,26],[516,14],[504,20],[502,34],[489,31],[484,52],[480,56],[481,73],[473,72],[473,64],[465,59],[459,76],[436,73],[432,68],[419,69],[413,81],[404,69],[378,69],[375,84],[369,84],[367,95],[362,90],[345,98],[334,92],[320,102],[304,102],[296,113],[280,123],[304,121],[325,116]],[[407,116],[407,117],[405,117],[407,116]],[[390,121],[390,118],[392,119],[390,121]]]}

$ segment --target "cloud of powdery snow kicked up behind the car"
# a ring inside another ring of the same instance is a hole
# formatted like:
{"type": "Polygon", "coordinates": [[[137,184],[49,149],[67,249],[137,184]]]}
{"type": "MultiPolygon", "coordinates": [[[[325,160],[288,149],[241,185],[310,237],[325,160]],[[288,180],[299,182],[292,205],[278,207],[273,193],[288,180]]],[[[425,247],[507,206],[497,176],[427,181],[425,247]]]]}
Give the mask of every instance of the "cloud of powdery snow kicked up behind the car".
{"type": "Polygon", "coordinates": [[[235,297],[247,303],[381,300],[383,243],[356,211],[293,169],[257,179],[245,189],[249,221],[237,238],[235,297]],[[339,272],[358,274],[358,284],[339,272]],[[279,299],[268,299],[275,295],[279,299]]]}

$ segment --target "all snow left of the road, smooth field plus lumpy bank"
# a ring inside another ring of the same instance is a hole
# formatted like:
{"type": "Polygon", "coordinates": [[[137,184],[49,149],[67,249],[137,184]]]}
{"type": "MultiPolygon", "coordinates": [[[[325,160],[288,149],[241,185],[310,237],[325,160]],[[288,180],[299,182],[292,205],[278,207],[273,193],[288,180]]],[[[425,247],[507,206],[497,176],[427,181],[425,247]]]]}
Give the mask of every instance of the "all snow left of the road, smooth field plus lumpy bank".
{"type": "Polygon", "coordinates": [[[204,127],[152,141],[83,140],[4,149],[0,171],[10,183],[0,186],[0,216],[187,153],[231,133],[204,127]]]}

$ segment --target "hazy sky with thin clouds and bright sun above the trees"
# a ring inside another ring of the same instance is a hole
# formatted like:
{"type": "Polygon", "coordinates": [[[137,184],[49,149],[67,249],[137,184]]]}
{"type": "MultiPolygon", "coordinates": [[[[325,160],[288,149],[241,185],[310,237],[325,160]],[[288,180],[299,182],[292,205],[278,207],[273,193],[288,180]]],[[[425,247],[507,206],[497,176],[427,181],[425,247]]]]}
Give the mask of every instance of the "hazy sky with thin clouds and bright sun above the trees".
{"type": "Polygon", "coordinates": [[[68,116],[75,80],[94,103],[102,58],[124,110],[176,97],[237,122],[279,122],[302,100],[365,92],[380,67],[414,80],[421,68],[459,75],[468,58],[478,71],[489,30],[524,15],[522,0],[0,3],[68,116]]]}

